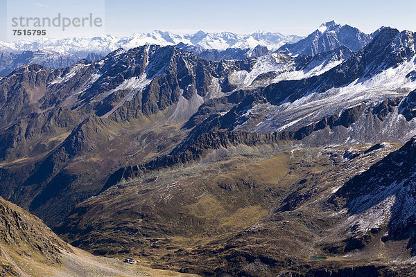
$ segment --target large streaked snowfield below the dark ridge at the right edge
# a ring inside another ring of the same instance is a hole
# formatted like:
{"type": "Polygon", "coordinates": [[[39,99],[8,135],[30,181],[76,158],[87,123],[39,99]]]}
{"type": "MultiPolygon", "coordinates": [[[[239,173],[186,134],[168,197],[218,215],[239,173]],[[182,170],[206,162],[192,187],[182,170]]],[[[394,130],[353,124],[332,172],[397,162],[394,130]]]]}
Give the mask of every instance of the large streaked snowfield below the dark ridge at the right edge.
{"type": "MultiPolygon", "coordinates": [[[[325,116],[338,114],[343,107],[352,107],[370,100],[380,102],[388,97],[406,96],[416,89],[406,75],[416,69],[415,58],[387,69],[368,80],[355,80],[346,87],[329,89],[325,92],[310,91],[294,102],[285,102],[270,107],[269,115],[252,132],[269,133],[284,130],[296,123],[318,122],[325,116]],[[312,115],[311,115],[312,114],[312,115]]],[[[401,115],[392,118],[400,120],[401,115]]]]}

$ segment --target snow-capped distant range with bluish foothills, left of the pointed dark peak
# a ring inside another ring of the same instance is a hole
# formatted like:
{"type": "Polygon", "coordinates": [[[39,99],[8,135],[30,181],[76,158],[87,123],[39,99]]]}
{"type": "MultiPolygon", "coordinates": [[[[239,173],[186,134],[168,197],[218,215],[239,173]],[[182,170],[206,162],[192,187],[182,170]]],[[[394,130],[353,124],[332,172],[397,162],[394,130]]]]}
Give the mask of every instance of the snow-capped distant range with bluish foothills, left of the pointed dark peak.
{"type": "Polygon", "coordinates": [[[71,66],[84,58],[90,61],[100,60],[118,48],[128,50],[146,44],[179,44],[184,50],[195,52],[208,60],[229,60],[269,53],[269,50],[277,50],[286,43],[294,43],[300,39],[302,37],[297,35],[285,36],[281,33],[262,31],[238,35],[230,32],[205,33],[200,30],[193,35],[175,35],[155,30],[153,33],[137,33],[127,37],[106,35],[92,38],[44,38],[37,41],[0,42],[0,76],[5,76],[24,64],[37,63],[51,69],[59,69],[71,66]]]}

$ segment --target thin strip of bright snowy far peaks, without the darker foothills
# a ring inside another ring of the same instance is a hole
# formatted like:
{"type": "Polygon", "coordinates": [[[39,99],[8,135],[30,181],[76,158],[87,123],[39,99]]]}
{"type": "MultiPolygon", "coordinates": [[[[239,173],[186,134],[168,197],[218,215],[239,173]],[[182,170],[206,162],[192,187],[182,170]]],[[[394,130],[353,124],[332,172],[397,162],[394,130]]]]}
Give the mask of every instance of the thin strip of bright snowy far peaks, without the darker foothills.
{"type": "Polygon", "coordinates": [[[71,53],[86,56],[89,53],[107,54],[117,48],[130,49],[145,44],[160,46],[186,44],[202,49],[225,50],[227,48],[254,48],[257,45],[266,46],[275,51],[286,43],[295,43],[302,39],[298,35],[282,35],[258,31],[249,35],[239,35],[231,32],[205,33],[202,30],[193,35],[176,35],[171,32],[155,30],[152,33],[135,33],[127,37],[74,37],[68,39],[44,38],[36,41],[0,42],[0,51],[20,52],[49,49],[61,54],[71,53]]]}

